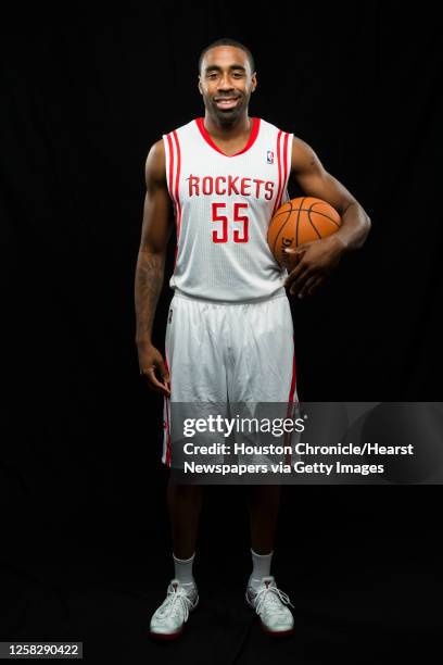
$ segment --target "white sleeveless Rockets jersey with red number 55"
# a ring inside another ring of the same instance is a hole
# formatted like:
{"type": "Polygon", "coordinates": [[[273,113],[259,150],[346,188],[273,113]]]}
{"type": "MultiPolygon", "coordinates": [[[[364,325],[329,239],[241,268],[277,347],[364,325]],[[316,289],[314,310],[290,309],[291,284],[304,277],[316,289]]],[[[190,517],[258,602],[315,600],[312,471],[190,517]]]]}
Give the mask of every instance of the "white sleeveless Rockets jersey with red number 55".
{"type": "Polygon", "coordinates": [[[269,222],[289,200],[293,134],[251,118],[248,145],[226,155],[203,118],[163,135],[177,248],[169,286],[221,302],[284,294],[287,271],[268,243],[269,222]]]}

